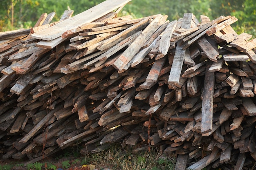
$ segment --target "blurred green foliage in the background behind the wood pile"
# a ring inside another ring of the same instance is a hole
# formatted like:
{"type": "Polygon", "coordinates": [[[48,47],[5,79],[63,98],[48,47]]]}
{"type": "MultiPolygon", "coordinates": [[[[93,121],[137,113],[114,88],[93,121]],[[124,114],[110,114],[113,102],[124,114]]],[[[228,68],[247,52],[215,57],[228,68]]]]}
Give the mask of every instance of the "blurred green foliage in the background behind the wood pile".
{"type": "MultiPolygon", "coordinates": [[[[66,9],[73,9],[74,15],[81,13],[104,0],[0,0],[0,31],[33,26],[42,13],[56,12],[54,21],[59,20],[66,9]],[[13,25],[11,11],[13,4],[13,25]]],[[[212,20],[220,15],[233,15],[238,22],[232,27],[238,34],[250,33],[256,37],[255,0],[132,0],[120,15],[141,18],[158,13],[168,15],[168,20],[182,18],[192,12],[199,19],[207,15],[212,20]]]]}

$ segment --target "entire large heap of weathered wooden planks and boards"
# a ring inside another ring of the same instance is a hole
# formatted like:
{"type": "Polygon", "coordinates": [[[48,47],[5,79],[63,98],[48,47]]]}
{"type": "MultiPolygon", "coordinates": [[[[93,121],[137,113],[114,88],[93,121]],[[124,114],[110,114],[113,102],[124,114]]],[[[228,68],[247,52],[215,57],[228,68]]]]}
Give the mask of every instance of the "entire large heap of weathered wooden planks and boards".
{"type": "Polygon", "coordinates": [[[117,17],[128,1],[0,33],[2,158],[26,165],[121,141],[159,147],[175,170],[253,166],[256,39],[231,16],[117,17]]]}

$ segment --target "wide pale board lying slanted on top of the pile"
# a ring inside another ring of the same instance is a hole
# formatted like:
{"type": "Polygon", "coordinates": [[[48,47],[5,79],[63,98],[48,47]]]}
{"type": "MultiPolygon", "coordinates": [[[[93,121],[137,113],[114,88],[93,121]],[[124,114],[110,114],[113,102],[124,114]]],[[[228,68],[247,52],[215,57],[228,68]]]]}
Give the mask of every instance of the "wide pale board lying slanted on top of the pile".
{"type": "Polygon", "coordinates": [[[113,11],[114,9],[126,4],[129,1],[130,0],[111,0],[111,2],[110,0],[104,1],[97,6],[94,6],[82,13],[75,15],[72,18],[63,20],[62,22],[59,22],[58,24],[50,28],[31,34],[31,37],[40,40],[51,41],[58,37],[61,37],[61,35],[63,35],[65,31],[72,30],[72,32],[75,33],[76,31],[81,30],[78,29],[79,25],[92,22],[100,18],[101,16],[113,11]]]}

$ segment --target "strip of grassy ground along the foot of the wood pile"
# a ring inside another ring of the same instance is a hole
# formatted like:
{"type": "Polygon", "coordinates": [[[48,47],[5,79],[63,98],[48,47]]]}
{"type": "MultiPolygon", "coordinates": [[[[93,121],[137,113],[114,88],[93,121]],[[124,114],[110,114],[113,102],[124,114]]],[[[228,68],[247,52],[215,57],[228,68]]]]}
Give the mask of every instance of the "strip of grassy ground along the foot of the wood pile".
{"type": "MultiPolygon", "coordinates": [[[[77,147],[77,146],[76,146],[77,147]]],[[[27,170],[63,170],[82,169],[83,165],[92,164],[96,169],[103,170],[173,170],[175,161],[171,157],[161,159],[159,150],[155,147],[150,147],[148,150],[141,151],[137,154],[132,154],[132,149],[128,146],[123,148],[121,144],[111,144],[107,150],[102,150],[97,153],[88,153],[87,155],[80,154],[80,148],[67,148],[56,154],[58,156],[43,159],[39,162],[28,164],[27,170]]],[[[11,170],[14,166],[23,166],[21,163],[0,164],[0,170],[11,170]]]]}

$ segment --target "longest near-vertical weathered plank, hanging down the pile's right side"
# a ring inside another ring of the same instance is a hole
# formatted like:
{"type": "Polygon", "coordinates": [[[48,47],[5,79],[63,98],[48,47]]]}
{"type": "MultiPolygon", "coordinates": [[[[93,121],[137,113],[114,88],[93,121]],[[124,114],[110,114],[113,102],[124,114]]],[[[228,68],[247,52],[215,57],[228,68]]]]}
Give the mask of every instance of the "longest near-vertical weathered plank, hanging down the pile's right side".
{"type": "MultiPolygon", "coordinates": [[[[209,68],[211,62],[207,63],[207,68],[209,68]]],[[[207,134],[213,130],[212,119],[213,119],[213,89],[215,76],[214,72],[207,71],[204,77],[204,91],[202,99],[202,135],[207,134]]]]}

